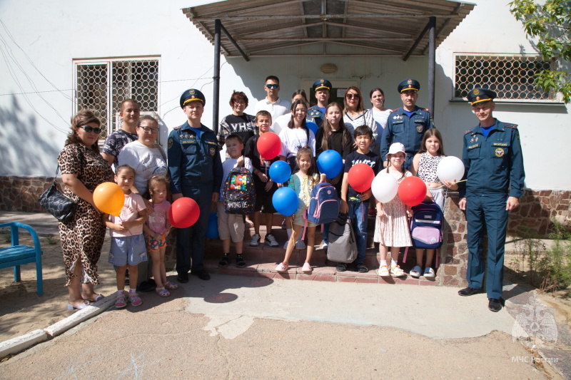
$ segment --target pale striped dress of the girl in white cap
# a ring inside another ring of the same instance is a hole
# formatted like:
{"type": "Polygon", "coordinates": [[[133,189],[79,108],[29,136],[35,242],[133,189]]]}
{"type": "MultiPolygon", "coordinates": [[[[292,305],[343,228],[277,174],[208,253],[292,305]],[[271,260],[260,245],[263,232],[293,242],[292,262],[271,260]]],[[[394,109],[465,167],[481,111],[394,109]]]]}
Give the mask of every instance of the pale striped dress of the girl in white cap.
{"type": "MultiPolygon", "coordinates": [[[[391,175],[395,175],[390,173],[391,175]]],[[[396,174],[395,178],[398,184],[407,177],[412,176],[408,170],[405,177],[396,174]]],[[[375,242],[379,242],[385,247],[410,247],[413,242],[410,240],[410,227],[408,225],[408,218],[406,217],[406,205],[396,195],[393,200],[383,204],[385,215],[382,217],[377,216],[375,222],[375,242]]]]}

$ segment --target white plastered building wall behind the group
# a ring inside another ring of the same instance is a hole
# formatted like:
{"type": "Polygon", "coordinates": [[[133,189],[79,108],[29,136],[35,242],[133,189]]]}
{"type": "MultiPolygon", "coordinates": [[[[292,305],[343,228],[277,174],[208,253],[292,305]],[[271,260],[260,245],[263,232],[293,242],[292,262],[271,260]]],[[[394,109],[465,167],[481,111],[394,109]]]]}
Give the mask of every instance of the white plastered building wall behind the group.
{"type": "MultiPolygon", "coordinates": [[[[507,5],[495,0],[474,2],[477,3],[475,9],[437,50],[434,115],[437,127],[445,135],[448,155],[461,155],[462,135],[477,123],[467,103],[450,103],[453,54],[533,52],[507,5]]],[[[0,160],[0,174],[54,173],[57,154],[69,130],[69,118],[75,111],[70,101],[74,96],[71,91],[74,58],[160,56],[158,113],[169,130],[185,120],[178,107],[178,97],[191,87],[205,93],[203,123],[212,127],[213,46],[181,11],[195,5],[196,2],[188,0],[1,1],[0,19],[14,41],[0,25],[0,46],[8,57],[13,54],[17,65],[11,58],[6,58],[9,65],[6,60],[0,61],[0,150],[4,158],[0,160]],[[54,91],[23,51],[61,93],[54,91]],[[36,90],[40,93],[34,93],[36,90]],[[22,92],[29,94],[24,96],[22,92]]],[[[396,91],[398,83],[404,78],[417,78],[423,86],[418,105],[428,107],[426,57],[412,57],[407,62],[400,58],[315,57],[253,58],[251,62],[231,58],[226,62],[222,57],[221,63],[221,118],[231,113],[228,100],[233,90],[248,95],[251,106],[246,112],[253,113],[253,104],[266,95],[263,91],[266,76],[277,75],[281,79],[280,95],[289,100],[293,90],[302,83],[323,76],[319,70],[323,63],[338,66],[338,72],[328,76],[334,85],[335,80],[356,81],[365,98],[371,88],[383,88],[387,98],[385,105],[390,108],[401,104],[396,91]]],[[[367,102],[367,106],[370,103],[367,102]]],[[[566,128],[571,121],[568,109],[566,106],[497,105],[497,118],[520,125],[528,188],[571,189],[571,175],[557,170],[558,163],[569,160],[563,145],[571,137],[566,128]],[[540,152],[540,159],[535,159],[540,152]],[[549,157],[547,152],[552,158],[544,164],[549,157]]]]}

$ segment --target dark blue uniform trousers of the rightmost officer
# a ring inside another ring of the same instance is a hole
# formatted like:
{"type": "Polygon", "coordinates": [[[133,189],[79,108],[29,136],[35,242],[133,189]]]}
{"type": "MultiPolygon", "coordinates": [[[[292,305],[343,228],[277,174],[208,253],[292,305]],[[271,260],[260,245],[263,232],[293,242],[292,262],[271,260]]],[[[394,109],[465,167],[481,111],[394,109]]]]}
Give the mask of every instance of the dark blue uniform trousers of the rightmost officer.
{"type": "Polygon", "coordinates": [[[487,230],[486,293],[488,298],[502,297],[504,277],[505,234],[508,212],[505,210],[507,195],[487,193],[466,195],[466,219],[468,220],[468,286],[482,289],[486,263],[482,242],[484,225],[487,230]]]}

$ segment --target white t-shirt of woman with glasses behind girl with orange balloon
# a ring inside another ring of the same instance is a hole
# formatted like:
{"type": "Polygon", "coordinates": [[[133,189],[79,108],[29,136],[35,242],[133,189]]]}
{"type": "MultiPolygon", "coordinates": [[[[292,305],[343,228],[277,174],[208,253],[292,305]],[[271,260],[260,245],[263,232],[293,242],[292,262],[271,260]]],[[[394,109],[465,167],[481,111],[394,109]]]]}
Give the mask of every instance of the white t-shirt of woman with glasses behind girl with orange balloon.
{"type": "Polygon", "coordinates": [[[135,169],[135,187],[140,194],[147,191],[148,179],[153,175],[166,176],[166,160],[160,148],[148,148],[138,140],[128,143],[119,153],[119,166],[131,165],[135,169]]]}

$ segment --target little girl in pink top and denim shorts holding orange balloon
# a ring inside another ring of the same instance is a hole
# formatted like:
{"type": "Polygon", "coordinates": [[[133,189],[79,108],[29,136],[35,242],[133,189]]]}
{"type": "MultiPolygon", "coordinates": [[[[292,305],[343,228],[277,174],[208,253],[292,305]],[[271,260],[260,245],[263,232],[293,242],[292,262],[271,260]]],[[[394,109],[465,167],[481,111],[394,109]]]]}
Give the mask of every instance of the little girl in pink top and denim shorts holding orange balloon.
{"type": "Polygon", "coordinates": [[[147,210],[143,197],[131,192],[135,182],[135,169],[129,165],[119,166],[115,175],[115,182],[125,194],[123,209],[118,217],[103,214],[103,222],[109,227],[111,234],[109,263],[117,267],[118,292],[115,307],[120,309],[127,306],[125,294],[125,271],[127,267],[131,273],[128,300],[133,306],[139,306],[143,303],[136,293],[136,279],[138,263],[147,261],[145,238],[143,237],[143,223],[147,218],[147,210]]]}

